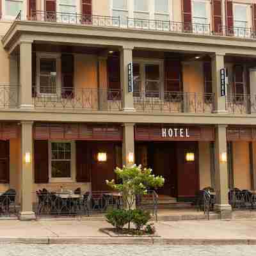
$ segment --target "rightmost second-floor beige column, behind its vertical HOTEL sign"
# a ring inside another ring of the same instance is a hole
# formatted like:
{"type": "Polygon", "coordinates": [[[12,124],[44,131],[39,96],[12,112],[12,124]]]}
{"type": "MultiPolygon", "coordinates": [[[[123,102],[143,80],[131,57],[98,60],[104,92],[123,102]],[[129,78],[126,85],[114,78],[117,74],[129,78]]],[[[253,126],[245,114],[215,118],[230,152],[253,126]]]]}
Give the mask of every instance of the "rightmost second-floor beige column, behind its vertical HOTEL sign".
{"type": "Polygon", "coordinates": [[[215,113],[227,113],[226,97],[221,96],[220,90],[220,70],[224,68],[224,56],[225,54],[219,52],[216,52],[216,54],[212,56],[212,92],[215,96],[215,113]]]}

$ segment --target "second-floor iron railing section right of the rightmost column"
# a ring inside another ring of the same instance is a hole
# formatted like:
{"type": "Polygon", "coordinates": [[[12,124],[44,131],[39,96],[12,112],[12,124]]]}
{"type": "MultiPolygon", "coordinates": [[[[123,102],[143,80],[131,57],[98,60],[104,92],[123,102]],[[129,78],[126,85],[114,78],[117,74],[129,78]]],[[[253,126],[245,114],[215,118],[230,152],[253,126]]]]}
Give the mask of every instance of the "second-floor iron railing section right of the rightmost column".
{"type": "Polygon", "coordinates": [[[256,113],[256,95],[234,94],[226,97],[227,111],[234,114],[256,113]]]}

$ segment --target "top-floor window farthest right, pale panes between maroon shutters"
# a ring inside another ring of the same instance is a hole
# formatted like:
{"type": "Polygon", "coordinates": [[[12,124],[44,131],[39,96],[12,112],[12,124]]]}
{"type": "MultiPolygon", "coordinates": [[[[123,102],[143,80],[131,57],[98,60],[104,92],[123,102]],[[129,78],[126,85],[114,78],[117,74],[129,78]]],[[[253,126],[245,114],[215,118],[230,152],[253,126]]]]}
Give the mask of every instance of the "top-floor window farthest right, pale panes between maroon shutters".
{"type": "Polygon", "coordinates": [[[234,4],[234,34],[236,36],[246,36],[251,28],[250,5],[234,4]]]}

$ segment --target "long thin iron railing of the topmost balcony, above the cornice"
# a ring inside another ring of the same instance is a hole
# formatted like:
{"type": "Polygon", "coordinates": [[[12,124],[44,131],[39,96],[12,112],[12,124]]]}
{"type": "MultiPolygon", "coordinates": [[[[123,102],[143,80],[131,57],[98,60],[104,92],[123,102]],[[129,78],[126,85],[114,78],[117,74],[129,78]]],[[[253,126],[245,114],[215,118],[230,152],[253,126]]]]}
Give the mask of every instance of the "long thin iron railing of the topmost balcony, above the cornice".
{"type": "MultiPolygon", "coordinates": [[[[198,24],[190,22],[186,23],[166,20],[133,19],[129,17],[124,20],[121,17],[84,15],[81,13],[47,12],[40,10],[31,10],[31,14],[27,19],[39,22],[60,22],[64,24],[79,24],[83,26],[99,26],[138,30],[143,29],[148,31],[169,31],[172,33],[186,33],[193,35],[217,35],[256,38],[256,33],[251,28],[220,26],[218,31],[212,31],[210,24],[198,24]]],[[[16,20],[22,20],[21,12],[19,12],[17,15],[16,20]]]]}

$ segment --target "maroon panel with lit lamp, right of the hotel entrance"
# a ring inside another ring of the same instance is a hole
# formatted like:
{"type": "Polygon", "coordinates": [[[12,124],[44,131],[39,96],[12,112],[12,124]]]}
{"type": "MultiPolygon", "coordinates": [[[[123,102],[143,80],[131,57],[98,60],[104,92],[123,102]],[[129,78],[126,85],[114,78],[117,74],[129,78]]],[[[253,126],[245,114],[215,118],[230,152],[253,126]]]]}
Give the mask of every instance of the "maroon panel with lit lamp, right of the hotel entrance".
{"type": "Polygon", "coordinates": [[[198,143],[177,143],[177,182],[180,200],[193,200],[199,190],[198,143]],[[186,153],[193,152],[195,161],[186,161],[186,153]]]}

